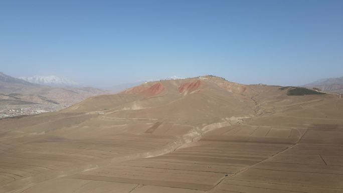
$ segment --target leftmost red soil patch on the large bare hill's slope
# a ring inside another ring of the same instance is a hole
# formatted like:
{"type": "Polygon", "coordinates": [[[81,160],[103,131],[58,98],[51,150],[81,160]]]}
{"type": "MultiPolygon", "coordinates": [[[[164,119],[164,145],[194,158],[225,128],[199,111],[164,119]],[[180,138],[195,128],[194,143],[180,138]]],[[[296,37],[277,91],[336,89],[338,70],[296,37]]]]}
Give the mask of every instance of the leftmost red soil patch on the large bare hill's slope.
{"type": "Polygon", "coordinates": [[[156,83],[150,87],[146,87],[145,85],[140,85],[133,87],[131,89],[123,91],[125,94],[142,94],[146,97],[152,97],[155,95],[160,94],[165,90],[164,86],[161,83],[156,83]]]}

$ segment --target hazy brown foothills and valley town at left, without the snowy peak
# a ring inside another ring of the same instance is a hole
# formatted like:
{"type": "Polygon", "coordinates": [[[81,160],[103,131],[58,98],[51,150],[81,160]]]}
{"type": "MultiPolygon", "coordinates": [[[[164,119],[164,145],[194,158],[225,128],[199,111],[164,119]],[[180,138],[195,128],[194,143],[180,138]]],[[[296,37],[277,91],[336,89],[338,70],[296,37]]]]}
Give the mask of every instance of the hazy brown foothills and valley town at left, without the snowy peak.
{"type": "Polygon", "coordinates": [[[0,72],[0,118],[57,111],[88,97],[111,93],[92,87],[42,86],[0,72]]]}

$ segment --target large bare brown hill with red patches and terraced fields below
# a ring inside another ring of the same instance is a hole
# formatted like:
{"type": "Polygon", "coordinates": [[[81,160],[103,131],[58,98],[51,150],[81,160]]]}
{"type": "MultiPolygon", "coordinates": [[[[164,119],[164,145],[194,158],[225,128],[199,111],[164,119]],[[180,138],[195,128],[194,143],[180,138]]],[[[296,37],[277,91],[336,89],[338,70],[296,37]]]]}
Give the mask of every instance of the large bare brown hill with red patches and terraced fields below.
{"type": "Polygon", "coordinates": [[[343,192],[343,100],[217,77],[0,119],[0,192],[343,192]]]}

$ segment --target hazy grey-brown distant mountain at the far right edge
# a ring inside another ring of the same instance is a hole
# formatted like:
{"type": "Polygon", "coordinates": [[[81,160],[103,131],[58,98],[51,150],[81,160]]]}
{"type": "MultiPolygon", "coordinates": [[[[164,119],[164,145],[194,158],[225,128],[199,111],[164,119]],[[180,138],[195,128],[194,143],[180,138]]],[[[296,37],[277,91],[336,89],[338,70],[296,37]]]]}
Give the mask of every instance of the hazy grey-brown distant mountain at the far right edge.
{"type": "Polygon", "coordinates": [[[307,88],[318,88],[326,92],[343,93],[343,76],[340,78],[326,78],[303,85],[307,88]]]}

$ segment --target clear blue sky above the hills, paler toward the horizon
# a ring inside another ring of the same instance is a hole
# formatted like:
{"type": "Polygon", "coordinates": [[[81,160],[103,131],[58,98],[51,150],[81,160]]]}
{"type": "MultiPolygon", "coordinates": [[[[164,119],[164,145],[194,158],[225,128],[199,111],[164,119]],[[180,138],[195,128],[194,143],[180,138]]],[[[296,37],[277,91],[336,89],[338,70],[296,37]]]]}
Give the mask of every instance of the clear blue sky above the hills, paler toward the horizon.
{"type": "Polygon", "coordinates": [[[343,1],[0,1],[0,71],[303,85],[343,76],[343,1]]]}

